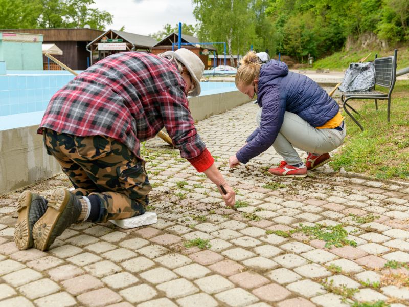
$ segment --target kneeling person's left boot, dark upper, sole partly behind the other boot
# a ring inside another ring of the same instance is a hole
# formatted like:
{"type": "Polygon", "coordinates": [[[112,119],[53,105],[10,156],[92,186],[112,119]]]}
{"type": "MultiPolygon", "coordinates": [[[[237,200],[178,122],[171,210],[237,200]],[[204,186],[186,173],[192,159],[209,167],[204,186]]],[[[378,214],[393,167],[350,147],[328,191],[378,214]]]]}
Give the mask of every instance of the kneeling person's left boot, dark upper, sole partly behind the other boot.
{"type": "Polygon", "coordinates": [[[30,191],[21,193],[18,199],[18,218],[14,227],[14,242],[19,250],[33,246],[33,226],[46,213],[47,200],[30,191]]]}

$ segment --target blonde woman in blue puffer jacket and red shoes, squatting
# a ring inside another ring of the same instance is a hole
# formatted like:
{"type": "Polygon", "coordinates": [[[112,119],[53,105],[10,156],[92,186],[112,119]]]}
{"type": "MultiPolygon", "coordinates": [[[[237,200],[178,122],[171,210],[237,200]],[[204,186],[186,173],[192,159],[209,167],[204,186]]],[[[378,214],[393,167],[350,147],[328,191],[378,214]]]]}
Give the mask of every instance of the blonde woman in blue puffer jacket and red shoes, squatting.
{"type": "Polygon", "coordinates": [[[278,177],[305,177],[328,163],[328,152],[339,147],[346,127],[339,106],[325,90],[307,76],[289,72],[284,62],[261,65],[256,53],[248,52],[236,74],[236,86],[248,97],[257,94],[259,127],[246,144],[229,158],[230,167],[247,163],[271,145],[284,158],[268,172],[278,177]],[[308,152],[304,163],[294,147],[308,152]]]}

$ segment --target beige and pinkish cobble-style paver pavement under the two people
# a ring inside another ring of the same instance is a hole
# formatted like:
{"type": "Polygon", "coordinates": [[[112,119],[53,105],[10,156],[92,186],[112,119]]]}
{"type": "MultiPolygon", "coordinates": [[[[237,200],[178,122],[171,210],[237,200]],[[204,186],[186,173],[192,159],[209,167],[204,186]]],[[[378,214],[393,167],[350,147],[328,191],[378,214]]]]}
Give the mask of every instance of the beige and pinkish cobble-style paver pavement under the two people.
{"type": "MultiPolygon", "coordinates": [[[[21,191],[2,196],[0,306],[409,305],[409,184],[343,177],[328,166],[280,181],[265,174],[281,160],[272,148],[229,169],[256,111],[248,103],[197,124],[244,204],[237,212],[159,139],[146,144],[156,224],[74,224],[48,252],[19,251],[12,235],[21,191]],[[340,225],[351,245],[326,246],[300,223],[340,225]],[[211,246],[184,246],[197,238],[211,246]],[[337,291],[344,288],[347,301],[337,291]]],[[[31,189],[50,195],[59,186],[70,186],[62,173],[31,189]]]]}

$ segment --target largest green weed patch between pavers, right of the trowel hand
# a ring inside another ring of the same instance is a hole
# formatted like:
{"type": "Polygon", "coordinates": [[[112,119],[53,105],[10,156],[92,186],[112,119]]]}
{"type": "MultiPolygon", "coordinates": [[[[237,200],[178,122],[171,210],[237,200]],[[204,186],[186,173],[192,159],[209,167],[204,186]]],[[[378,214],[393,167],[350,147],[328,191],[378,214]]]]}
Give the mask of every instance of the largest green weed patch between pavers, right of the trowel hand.
{"type": "Polygon", "coordinates": [[[355,241],[347,239],[348,232],[343,228],[342,224],[338,224],[336,226],[327,226],[322,224],[318,224],[316,226],[305,226],[300,224],[300,227],[296,229],[287,231],[275,230],[271,233],[282,237],[289,237],[293,233],[304,233],[309,236],[311,240],[324,240],[326,242],[324,247],[326,248],[330,248],[331,246],[343,247],[345,245],[351,245],[354,247],[357,246],[355,241]]]}

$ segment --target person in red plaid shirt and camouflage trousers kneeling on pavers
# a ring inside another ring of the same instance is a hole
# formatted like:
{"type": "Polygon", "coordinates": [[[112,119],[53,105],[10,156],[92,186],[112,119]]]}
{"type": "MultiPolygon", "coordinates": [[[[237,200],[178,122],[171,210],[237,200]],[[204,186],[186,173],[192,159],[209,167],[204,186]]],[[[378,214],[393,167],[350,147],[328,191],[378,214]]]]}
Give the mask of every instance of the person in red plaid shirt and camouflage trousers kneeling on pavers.
{"type": "Polygon", "coordinates": [[[152,187],[140,142],[163,127],[181,157],[205,173],[233,207],[235,192],[215,166],[189,111],[187,96],[200,94],[203,69],[199,57],[185,48],[159,56],[123,52],[100,60],[59,90],[37,133],[75,190],[58,188],[48,199],[22,193],[17,247],[47,250],[72,223],[145,213],[152,187]]]}

